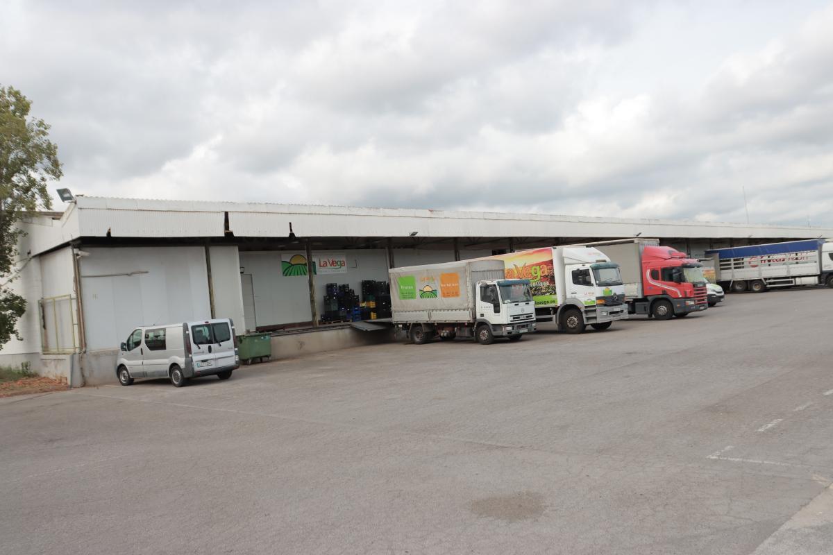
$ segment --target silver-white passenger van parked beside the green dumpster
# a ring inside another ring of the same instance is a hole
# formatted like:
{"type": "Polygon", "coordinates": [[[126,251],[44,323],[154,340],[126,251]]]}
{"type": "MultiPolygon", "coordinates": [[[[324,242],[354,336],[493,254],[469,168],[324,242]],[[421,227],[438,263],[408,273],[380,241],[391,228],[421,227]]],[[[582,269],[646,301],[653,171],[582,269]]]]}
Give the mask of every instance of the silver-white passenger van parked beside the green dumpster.
{"type": "Polygon", "coordinates": [[[121,345],[116,374],[122,385],[136,378],[168,378],[182,387],[200,376],[229,379],[239,366],[234,323],[220,319],[133,330],[121,345]]]}

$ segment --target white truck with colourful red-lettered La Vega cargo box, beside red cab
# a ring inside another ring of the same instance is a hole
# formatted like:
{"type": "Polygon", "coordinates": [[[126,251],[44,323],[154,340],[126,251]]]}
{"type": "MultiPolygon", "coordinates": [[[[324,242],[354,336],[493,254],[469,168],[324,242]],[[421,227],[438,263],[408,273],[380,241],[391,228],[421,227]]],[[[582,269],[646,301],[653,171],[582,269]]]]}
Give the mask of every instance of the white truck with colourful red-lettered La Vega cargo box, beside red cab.
{"type": "Polygon", "coordinates": [[[503,260],[506,278],[531,282],[536,320],[581,334],[587,325],[607,330],[628,317],[619,265],[601,250],[581,245],[518,250],[503,260]]]}

